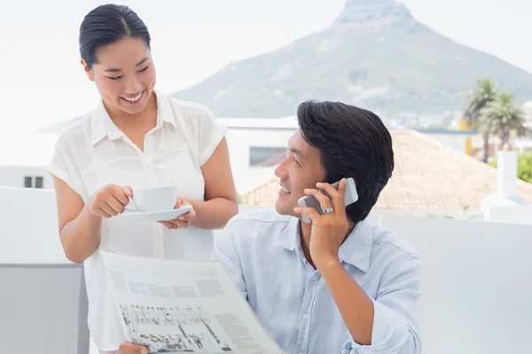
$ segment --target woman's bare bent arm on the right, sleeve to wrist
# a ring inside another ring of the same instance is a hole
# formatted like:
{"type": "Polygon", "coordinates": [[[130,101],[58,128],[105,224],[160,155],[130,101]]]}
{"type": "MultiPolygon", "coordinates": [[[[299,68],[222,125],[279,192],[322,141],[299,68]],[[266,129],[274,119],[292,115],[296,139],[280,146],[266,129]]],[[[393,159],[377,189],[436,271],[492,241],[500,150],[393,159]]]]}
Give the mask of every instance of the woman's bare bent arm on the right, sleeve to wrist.
{"type": "Polygon", "coordinates": [[[188,200],[196,212],[192,225],[201,228],[223,228],[239,212],[235,182],[231,172],[229,148],[225,138],[212,156],[201,166],[205,180],[205,201],[188,200]]]}

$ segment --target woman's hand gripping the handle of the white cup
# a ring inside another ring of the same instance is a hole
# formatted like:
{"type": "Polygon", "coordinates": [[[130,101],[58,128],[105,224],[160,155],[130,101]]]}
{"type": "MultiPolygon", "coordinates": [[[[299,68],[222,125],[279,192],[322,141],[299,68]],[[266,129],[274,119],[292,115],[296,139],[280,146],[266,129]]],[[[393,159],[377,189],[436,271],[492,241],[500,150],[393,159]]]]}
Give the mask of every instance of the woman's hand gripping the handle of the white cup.
{"type": "Polygon", "coordinates": [[[90,198],[89,211],[102,218],[111,218],[124,212],[132,195],[131,187],[108,184],[90,198]]]}

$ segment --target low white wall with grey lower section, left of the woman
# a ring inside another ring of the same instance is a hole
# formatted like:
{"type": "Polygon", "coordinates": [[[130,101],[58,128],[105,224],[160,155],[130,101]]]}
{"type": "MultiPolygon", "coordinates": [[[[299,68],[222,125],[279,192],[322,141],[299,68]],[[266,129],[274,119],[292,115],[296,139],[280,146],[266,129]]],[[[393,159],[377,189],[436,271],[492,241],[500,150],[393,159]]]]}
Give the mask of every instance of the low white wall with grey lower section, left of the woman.
{"type": "Polygon", "coordinates": [[[53,191],[0,187],[0,352],[87,354],[83,280],[61,248],[53,191]]]}

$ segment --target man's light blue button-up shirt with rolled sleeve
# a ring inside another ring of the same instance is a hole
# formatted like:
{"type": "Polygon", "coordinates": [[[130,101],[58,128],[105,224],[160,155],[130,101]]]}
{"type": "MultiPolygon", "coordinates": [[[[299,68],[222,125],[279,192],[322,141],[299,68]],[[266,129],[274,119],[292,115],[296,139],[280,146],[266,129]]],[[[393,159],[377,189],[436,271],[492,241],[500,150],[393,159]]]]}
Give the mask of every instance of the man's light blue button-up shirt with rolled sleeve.
{"type": "Polygon", "coordinates": [[[340,247],[341,264],[374,304],[367,346],[349,335],[324,279],[303,255],[299,219],[244,212],[215,239],[215,258],[286,354],[421,352],[421,262],[392,232],[362,221],[340,247]]]}

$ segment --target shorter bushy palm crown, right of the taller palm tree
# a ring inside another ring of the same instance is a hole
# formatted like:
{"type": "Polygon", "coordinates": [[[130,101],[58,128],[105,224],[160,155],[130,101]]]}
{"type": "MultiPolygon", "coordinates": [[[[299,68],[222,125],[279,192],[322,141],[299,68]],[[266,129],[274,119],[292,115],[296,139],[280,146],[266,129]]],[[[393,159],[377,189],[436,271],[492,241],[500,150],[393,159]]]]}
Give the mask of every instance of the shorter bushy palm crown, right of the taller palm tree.
{"type": "Polygon", "coordinates": [[[522,136],[528,133],[524,114],[513,104],[512,94],[498,94],[495,101],[488,104],[481,116],[481,126],[490,134],[497,135],[503,146],[510,140],[510,135],[522,136]]]}

